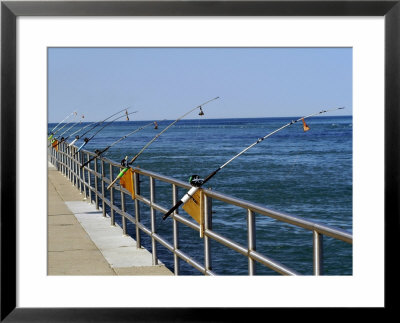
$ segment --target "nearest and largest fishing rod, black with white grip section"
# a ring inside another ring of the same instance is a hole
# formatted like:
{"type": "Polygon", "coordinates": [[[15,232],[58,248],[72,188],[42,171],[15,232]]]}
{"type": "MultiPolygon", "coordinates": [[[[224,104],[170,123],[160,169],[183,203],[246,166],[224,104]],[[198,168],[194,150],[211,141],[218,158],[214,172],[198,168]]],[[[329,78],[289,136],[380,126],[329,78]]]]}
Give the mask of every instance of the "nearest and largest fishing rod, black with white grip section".
{"type": "Polygon", "coordinates": [[[304,119],[322,114],[322,113],[326,113],[326,112],[330,112],[330,111],[336,111],[339,109],[344,109],[344,107],[340,107],[340,108],[336,108],[336,109],[331,109],[331,110],[322,110],[320,112],[317,113],[313,113],[310,114],[308,116],[305,117],[301,117],[297,120],[292,120],[291,122],[283,125],[282,127],[270,132],[269,134],[265,135],[262,138],[257,139],[256,142],[254,142],[253,144],[251,144],[250,146],[246,147],[245,149],[243,149],[240,153],[238,153],[237,155],[233,156],[231,159],[229,159],[227,162],[225,162],[224,164],[222,164],[220,167],[218,167],[216,170],[214,170],[213,172],[211,172],[205,179],[200,179],[198,175],[192,175],[190,176],[189,182],[192,185],[192,188],[167,212],[164,214],[163,216],[163,220],[165,220],[166,218],[168,218],[168,216],[174,212],[176,209],[179,208],[179,206],[181,206],[182,204],[185,204],[187,201],[189,201],[190,198],[193,197],[194,193],[197,192],[197,190],[199,190],[205,183],[207,183],[211,178],[213,178],[222,168],[224,168],[226,165],[228,165],[229,163],[231,163],[233,160],[235,160],[236,158],[238,158],[240,155],[244,154],[246,151],[248,151],[250,148],[254,147],[255,145],[259,144],[260,142],[262,142],[264,139],[267,139],[268,137],[272,136],[273,134],[285,129],[286,127],[291,126],[292,124],[299,122],[299,121],[303,121],[303,127],[304,127],[304,131],[308,131],[310,128],[307,126],[307,124],[304,122],[304,119]]]}

